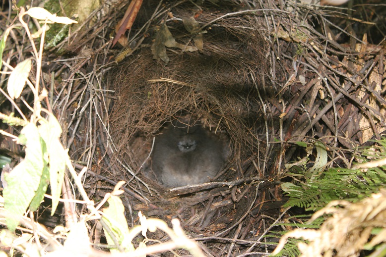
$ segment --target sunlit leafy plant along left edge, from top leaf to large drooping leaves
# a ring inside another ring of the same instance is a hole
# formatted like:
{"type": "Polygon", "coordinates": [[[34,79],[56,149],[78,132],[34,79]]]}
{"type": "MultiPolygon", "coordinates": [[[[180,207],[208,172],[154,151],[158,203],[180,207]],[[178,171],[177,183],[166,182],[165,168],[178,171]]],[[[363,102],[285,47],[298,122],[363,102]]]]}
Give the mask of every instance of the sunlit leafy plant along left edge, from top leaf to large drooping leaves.
{"type": "MultiPolygon", "coordinates": [[[[48,20],[64,24],[76,22],[67,17],[56,16],[40,7],[32,7],[26,12],[22,8],[19,20],[24,25],[28,35],[30,35],[28,25],[23,20],[23,16],[26,14],[36,19],[45,20],[46,22],[48,20]]],[[[0,53],[2,53],[5,48],[6,37],[11,29],[12,26],[7,28],[3,33],[0,42],[0,53]]],[[[34,51],[36,51],[36,49],[34,49],[34,51]]],[[[41,56],[41,54],[35,52],[35,56],[41,56]]],[[[41,62],[40,59],[36,61],[41,62]]],[[[26,59],[18,63],[9,75],[7,93],[11,99],[20,97],[25,83],[29,82],[28,76],[31,68],[32,60],[26,59]]],[[[40,74],[40,71],[37,71],[37,74],[40,74]]],[[[39,76],[37,76],[37,81],[39,81],[39,79],[39,76]]],[[[25,145],[24,160],[16,165],[9,174],[4,175],[4,179],[7,182],[7,186],[3,190],[4,208],[7,213],[5,219],[10,231],[15,230],[20,218],[28,207],[31,211],[37,210],[44,199],[50,178],[51,190],[53,192],[52,214],[55,212],[62,190],[66,160],[69,159],[67,152],[64,151],[59,140],[62,134],[61,126],[53,114],[41,107],[40,99],[46,97],[45,91],[43,90],[42,94],[39,95],[39,85],[36,85],[35,88],[31,84],[29,85],[34,94],[34,108],[30,108],[32,113],[28,115],[31,116],[30,121],[25,118],[26,115],[24,115],[12,101],[11,103],[18,109],[23,119],[13,117],[13,114],[10,116],[1,114],[3,122],[10,125],[23,126],[17,142],[25,145]],[[42,110],[45,113],[49,113],[48,120],[42,117],[42,110]],[[37,125],[37,121],[39,121],[39,125],[37,125]]],[[[6,133],[1,131],[1,134],[6,133]]]]}

